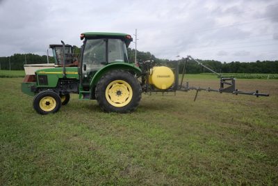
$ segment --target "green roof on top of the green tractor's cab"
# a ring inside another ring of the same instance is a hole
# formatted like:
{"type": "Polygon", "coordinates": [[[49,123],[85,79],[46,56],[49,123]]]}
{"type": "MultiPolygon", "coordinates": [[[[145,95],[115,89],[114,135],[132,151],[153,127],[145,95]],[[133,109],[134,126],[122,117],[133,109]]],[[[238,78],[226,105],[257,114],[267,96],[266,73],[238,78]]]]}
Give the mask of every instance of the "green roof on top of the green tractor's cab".
{"type": "Polygon", "coordinates": [[[119,38],[124,40],[126,47],[129,46],[133,38],[127,33],[112,33],[112,32],[84,32],[81,33],[81,40],[83,38],[119,38]]]}

